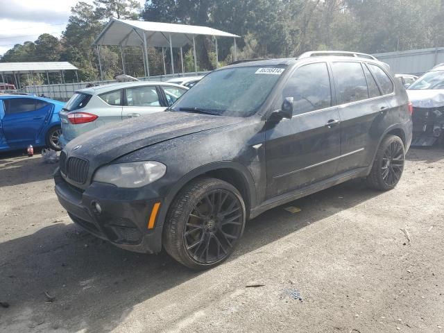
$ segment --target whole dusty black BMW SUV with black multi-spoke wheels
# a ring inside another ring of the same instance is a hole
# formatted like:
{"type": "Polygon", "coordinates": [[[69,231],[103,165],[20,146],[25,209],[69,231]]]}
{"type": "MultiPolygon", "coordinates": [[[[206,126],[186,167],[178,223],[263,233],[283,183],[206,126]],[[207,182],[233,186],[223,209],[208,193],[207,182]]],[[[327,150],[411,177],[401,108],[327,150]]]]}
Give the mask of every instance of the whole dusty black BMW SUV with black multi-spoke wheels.
{"type": "Polygon", "coordinates": [[[56,194],[120,248],[190,268],[226,259],[246,220],[352,178],[393,189],[411,143],[404,87],[370,58],[244,62],[208,74],[166,112],[65,147],[56,194]]]}

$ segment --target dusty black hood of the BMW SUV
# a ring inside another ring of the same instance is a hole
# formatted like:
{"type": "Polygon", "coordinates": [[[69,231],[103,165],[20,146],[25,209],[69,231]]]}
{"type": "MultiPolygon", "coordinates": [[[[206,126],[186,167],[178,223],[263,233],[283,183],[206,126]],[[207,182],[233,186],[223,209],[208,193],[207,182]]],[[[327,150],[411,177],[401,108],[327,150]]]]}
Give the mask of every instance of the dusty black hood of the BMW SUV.
{"type": "Polygon", "coordinates": [[[157,112],[80,135],[67,144],[65,153],[86,158],[90,166],[98,167],[146,146],[239,121],[241,118],[187,112],[157,112]]]}

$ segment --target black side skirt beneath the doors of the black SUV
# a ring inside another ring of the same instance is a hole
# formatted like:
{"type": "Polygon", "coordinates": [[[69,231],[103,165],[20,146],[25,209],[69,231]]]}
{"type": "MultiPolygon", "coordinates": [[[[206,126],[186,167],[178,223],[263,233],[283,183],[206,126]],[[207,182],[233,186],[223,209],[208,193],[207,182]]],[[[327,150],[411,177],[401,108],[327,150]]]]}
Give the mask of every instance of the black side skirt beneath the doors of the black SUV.
{"type": "Polygon", "coordinates": [[[370,167],[364,167],[359,169],[354,169],[347,171],[345,173],[341,173],[337,176],[327,178],[322,182],[316,182],[314,184],[308,185],[306,187],[302,187],[302,189],[296,189],[295,191],[291,191],[286,194],[281,194],[280,196],[275,196],[274,198],[270,198],[265,200],[261,205],[253,208],[250,211],[250,219],[255,218],[259,214],[262,214],[266,210],[271,210],[271,208],[278,207],[280,205],[284,205],[285,203],[289,203],[293,200],[302,198],[304,196],[309,196],[310,194],[314,194],[318,191],[322,191],[323,189],[327,189],[334,185],[341,184],[341,182],[346,182],[347,180],[359,177],[368,176],[370,173],[370,167]]]}

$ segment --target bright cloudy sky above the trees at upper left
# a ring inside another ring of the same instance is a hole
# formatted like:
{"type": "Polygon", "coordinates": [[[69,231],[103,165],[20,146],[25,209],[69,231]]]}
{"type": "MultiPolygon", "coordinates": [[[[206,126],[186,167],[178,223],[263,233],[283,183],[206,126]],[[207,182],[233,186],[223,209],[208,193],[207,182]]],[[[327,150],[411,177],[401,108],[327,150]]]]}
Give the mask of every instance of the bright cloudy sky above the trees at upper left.
{"type": "MultiPolygon", "coordinates": [[[[93,0],[83,0],[92,3],[93,0]]],[[[141,4],[144,0],[139,0],[141,4]]],[[[0,55],[42,33],[60,37],[78,0],[0,0],[0,55]]]]}

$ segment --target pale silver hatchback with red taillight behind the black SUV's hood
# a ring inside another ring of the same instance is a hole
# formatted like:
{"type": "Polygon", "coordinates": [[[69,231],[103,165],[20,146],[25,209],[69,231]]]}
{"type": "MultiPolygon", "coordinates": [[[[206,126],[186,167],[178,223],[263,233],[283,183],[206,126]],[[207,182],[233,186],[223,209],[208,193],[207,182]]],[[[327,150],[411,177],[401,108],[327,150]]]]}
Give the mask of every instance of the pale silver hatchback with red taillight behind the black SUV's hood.
{"type": "Polygon", "coordinates": [[[164,111],[187,87],[167,82],[126,82],[78,90],[60,111],[66,146],[75,137],[107,123],[164,111]]]}

